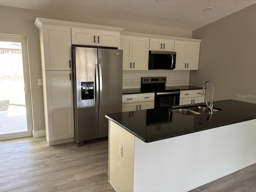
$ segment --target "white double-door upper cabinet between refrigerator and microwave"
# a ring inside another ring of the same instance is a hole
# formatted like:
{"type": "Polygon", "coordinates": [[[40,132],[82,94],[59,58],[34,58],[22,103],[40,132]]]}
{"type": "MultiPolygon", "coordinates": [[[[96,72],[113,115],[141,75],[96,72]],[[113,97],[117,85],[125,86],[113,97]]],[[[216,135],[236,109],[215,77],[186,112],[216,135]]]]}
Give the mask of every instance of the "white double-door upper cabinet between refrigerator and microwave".
{"type": "Polygon", "coordinates": [[[120,36],[123,70],[148,70],[149,38],[120,36]]]}

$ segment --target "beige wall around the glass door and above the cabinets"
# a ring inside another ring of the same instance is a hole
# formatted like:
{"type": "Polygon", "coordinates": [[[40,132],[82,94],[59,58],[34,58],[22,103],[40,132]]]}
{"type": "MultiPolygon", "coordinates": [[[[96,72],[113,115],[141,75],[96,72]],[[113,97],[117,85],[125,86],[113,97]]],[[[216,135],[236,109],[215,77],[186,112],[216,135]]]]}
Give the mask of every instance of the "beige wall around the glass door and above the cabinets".
{"type": "Polygon", "coordinates": [[[96,18],[82,18],[68,14],[57,14],[51,12],[0,6],[0,33],[27,36],[30,80],[32,89],[32,110],[35,131],[45,129],[42,86],[37,85],[37,79],[42,79],[39,34],[38,29],[34,26],[34,22],[37,17],[106,26],[116,26],[126,28],[125,31],[130,32],[178,36],[185,38],[191,38],[192,36],[192,31],[177,28],[148,26],[144,24],[135,24],[132,22],[117,22],[113,20],[100,20],[96,18]]]}

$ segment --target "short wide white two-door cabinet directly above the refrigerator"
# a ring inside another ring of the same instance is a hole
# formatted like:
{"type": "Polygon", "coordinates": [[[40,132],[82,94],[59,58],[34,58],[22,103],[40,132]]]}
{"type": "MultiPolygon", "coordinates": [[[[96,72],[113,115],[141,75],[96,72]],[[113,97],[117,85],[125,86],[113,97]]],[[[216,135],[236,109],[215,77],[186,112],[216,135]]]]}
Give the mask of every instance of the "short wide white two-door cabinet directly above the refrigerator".
{"type": "Polygon", "coordinates": [[[71,28],[72,44],[118,47],[119,32],[71,28]]]}

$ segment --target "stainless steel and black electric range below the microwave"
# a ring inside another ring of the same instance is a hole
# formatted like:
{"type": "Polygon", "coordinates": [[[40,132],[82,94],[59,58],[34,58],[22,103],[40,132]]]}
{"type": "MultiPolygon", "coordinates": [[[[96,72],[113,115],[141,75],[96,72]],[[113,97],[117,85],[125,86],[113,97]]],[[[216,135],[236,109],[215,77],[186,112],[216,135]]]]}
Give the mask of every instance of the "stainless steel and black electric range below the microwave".
{"type": "Polygon", "coordinates": [[[179,105],[180,90],[166,87],[166,77],[142,77],[141,90],[155,92],[155,108],[179,105]]]}

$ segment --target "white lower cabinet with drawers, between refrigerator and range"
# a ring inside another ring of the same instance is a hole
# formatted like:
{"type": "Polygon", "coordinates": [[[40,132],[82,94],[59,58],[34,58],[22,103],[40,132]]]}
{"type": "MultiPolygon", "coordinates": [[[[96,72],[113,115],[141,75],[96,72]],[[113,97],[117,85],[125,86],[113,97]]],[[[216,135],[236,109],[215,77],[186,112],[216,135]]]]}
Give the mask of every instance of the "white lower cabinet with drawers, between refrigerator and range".
{"type": "Polygon", "coordinates": [[[122,112],[154,108],[154,93],[126,94],[122,98],[122,112]]]}

